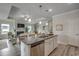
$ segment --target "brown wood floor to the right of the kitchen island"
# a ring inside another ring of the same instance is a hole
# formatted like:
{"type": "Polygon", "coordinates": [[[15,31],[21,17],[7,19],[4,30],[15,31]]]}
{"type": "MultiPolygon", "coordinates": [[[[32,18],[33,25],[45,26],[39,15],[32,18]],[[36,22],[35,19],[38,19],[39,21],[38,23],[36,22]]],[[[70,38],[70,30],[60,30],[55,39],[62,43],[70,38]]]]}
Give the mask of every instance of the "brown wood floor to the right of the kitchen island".
{"type": "Polygon", "coordinates": [[[79,47],[59,44],[49,56],[79,56],[79,47]]]}

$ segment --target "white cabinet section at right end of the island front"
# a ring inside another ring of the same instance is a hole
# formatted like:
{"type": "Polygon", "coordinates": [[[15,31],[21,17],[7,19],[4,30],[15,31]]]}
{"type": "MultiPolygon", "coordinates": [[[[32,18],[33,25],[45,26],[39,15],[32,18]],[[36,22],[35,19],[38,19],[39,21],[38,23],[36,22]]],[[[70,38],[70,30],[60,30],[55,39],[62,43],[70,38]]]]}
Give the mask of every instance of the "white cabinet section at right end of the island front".
{"type": "Polygon", "coordinates": [[[48,56],[57,47],[57,36],[45,40],[45,56],[48,56]]]}

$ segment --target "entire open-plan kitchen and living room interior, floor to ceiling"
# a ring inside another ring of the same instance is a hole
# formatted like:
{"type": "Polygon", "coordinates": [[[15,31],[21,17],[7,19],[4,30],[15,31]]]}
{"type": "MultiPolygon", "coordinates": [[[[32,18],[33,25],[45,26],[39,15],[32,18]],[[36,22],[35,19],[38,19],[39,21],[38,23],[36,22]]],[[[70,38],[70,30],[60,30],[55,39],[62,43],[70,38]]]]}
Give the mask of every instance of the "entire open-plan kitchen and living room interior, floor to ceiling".
{"type": "Polygon", "coordinates": [[[0,3],[0,56],[79,56],[79,3],[0,3]]]}

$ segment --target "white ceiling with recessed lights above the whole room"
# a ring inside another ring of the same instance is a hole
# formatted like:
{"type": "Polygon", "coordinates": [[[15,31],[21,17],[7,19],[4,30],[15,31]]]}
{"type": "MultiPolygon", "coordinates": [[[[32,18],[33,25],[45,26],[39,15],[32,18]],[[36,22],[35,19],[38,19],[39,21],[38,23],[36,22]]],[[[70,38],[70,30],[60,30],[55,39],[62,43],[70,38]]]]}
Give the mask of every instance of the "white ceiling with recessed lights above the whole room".
{"type": "Polygon", "coordinates": [[[77,3],[2,3],[0,4],[0,17],[7,18],[12,6],[19,8],[18,17],[29,15],[33,20],[32,22],[38,22],[40,18],[50,18],[54,15],[79,9],[77,3]],[[47,12],[48,9],[52,9],[52,12],[47,12]]]}

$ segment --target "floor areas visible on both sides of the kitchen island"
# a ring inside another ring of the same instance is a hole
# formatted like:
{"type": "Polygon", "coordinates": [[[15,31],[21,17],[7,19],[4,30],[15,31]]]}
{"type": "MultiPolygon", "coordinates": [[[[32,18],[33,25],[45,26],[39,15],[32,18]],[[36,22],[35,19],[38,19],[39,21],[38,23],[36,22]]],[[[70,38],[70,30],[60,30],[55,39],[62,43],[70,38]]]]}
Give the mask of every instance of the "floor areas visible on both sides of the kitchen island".
{"type": "MultiPolygon", "coordinates": [[[[8,40],[0,40],[0,56],[20,56],[20,50],[8,40]]],[[[49,56],[79,56],[79,47],[59,44],[49,56]]]]}

